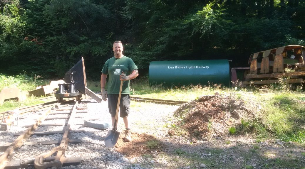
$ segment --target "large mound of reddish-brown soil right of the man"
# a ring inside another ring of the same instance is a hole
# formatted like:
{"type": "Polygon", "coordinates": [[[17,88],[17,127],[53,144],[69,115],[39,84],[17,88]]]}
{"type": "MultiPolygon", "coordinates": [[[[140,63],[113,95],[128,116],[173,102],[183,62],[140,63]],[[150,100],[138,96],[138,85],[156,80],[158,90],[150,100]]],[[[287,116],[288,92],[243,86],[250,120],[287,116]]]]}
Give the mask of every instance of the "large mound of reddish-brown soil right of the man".
{"type": "Polygon", "coordinates": [[[253,120],[259,110],[254,98],[229,94],[200,97],[179,107],[174,115],[184,117],[182,128],[192,136],[224,136],[230,126],[238,127],[241,119],[253,120]]]}

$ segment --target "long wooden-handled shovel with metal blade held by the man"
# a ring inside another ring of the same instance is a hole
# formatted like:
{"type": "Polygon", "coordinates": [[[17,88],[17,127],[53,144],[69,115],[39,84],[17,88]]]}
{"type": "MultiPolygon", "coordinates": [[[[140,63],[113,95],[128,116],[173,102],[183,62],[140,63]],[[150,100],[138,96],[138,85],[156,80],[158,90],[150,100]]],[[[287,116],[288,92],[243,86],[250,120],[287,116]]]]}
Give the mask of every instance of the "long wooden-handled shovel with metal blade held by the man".
{"type": "Polygon", "coordinates": [[[112,130],[109,130],[106,139],[105,139],[105,146],[112,148],[115,144],[117,144],[117,140],[119,139],[120,132],[116,130],[117,126],[117,114],[119,113],[119,107],[120,107],[120,99],[121,99],[121,93],[122,93],[122,86],[123,86],[124,81],[121,81],[121,86],[120,86],[120,92],[119,92],[119,99],[117,100],[117,111],[115,114],[115,119],[114,119],[114,127],[112,130]]]}

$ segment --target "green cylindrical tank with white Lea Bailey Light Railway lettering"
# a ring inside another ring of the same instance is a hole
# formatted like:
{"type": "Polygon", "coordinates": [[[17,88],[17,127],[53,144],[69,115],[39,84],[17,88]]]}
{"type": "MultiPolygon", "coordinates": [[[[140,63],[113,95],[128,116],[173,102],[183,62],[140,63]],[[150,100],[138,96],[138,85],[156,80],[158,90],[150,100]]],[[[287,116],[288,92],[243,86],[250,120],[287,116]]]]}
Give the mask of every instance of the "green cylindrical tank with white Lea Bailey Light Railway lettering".
{"type": "Polygon", "coordinates": [[[228,60],[155,61],[149,64],[149,84],[164,86],[210,85],[230,86],[228,60]]]}

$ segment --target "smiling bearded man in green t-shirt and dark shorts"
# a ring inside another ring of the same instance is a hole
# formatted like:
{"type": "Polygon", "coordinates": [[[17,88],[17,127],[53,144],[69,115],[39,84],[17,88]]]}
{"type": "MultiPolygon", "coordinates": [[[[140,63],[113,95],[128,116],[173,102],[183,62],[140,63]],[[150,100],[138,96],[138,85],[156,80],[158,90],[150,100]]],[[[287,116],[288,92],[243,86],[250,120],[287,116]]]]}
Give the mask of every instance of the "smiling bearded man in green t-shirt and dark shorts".
{"type": "Polygon", "coordinates": [[[125,81],[122,86],[122,94],[120,98],[120,117],[123,118],[125,124],[125,141],[131,141],[131,130],[128,125],[129,105],[130,105],[130,79],[135,79],[138,73],[138,67],[131,58],[123,55],[123,44],[120,41],[113,43],[114,56],[105,62],[101,75],[101,91],[102,99],[107,101],[108,109],[111,114],[111,121],[113,129],[114,120],[117,109],[117,101],[120,92],[120,81],[125,81]],[[107,91],[105,90],[106,78],[109,75],[107,91]]]}

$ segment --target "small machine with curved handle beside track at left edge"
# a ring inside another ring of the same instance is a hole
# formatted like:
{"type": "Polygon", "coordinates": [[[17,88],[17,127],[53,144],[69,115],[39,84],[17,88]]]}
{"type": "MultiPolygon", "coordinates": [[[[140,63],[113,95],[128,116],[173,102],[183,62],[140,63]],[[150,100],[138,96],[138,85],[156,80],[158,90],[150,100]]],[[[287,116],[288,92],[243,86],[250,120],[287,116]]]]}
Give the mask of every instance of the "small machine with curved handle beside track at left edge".
{"type": "Polygon", "coordinates": [[[18,125],[19,114],[15,111],[6,111],[2,115],[0,130],[5,131],[11,129],[11,126],[18,125]],[[5,117],[6,116],[6,117],[5,117]]]}

